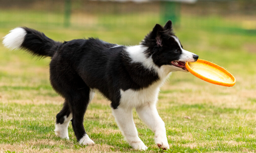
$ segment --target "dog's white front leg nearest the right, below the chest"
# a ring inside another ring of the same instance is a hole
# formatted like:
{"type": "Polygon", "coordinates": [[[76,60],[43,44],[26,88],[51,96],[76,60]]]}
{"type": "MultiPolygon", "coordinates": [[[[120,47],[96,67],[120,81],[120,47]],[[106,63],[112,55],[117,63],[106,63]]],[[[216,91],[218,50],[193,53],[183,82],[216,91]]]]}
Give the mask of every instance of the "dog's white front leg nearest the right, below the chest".
{"type": "Polygon", "coordinates": [[[146,103],[136,108],[136,111],[140,119],[154,132],[155,143],[157,146],[163,149],[169,149],[166,137],[166,128],[163,120],[157,112],[155,103],[146,103]]]}

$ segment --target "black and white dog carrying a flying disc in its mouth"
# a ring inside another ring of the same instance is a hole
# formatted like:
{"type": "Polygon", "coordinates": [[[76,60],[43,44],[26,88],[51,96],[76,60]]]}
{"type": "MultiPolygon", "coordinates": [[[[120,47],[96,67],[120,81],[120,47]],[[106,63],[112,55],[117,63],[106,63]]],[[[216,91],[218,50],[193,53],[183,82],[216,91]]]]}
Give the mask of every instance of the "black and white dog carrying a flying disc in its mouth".
{"type": "Polygon", "coordinates": [[[50,82],[65,99],[56,116],[57,136],[69,139],[67,127],[71,121],[77,140],[81,144],[94,144],[84,130],[83,120],[98,90],[111,101],[117,125],[133,148],[147,149],[134,125],[133,108],[154,132],[157,146],[169,148],[166,128],[156,109],[160,86],[171,72],[187,72],[185,62],[198,59],[198,55],[183,49],[173,33],[171,20],[164,27],[156,24],[140,45],[135,46],[94,38],[56,42],[26,27],[11,30],[3,44],[52,58],[50,82]]]}

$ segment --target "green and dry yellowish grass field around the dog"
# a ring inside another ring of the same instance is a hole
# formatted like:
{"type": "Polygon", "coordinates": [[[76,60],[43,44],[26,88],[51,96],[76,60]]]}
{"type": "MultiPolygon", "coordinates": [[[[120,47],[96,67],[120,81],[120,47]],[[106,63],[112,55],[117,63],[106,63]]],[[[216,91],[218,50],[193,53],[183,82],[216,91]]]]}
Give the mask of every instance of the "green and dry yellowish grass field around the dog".
{"type": "MultiPolygon", "coordinates": [[[[16,26],[16,24],[15,24],[16,26]]],[[[144,28],[76,30],[36,27],[54,40],[99,37],[136,45],[153,25],[144,28]]],[[[4,37],[10,28],[0,28],[4,37]]],[[[161,88],[157,105],[166,124],[170,144],[167,152],[256,152],[256,36],[176,28],[182,45],[199,58],[226,68],[236,77],[230,88],[212,85],[190,73],[175,72],[161,88]]],[[[140,152],[132,149],[118,129],[110,102],[100,94],[89,105],[84,127],[94,146],[80,146],[71,124],[70,140],[54,134],[55,115],[63,99],[49,83],[49,58],[37,59],[24,51],[9,51],[0,45],[0,153],[105,153],[140,152]]],[[[158,152],[154,135],[134,111],[140,138],[158,152]]]]}

